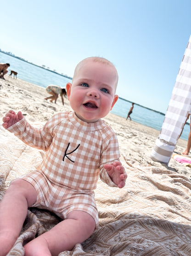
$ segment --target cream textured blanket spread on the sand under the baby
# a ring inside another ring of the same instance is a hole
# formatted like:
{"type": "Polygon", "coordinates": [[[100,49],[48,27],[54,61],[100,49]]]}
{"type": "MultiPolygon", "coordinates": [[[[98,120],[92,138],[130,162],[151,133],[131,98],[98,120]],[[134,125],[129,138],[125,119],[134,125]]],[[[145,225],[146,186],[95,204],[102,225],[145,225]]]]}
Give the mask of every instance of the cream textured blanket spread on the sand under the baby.
{"type": "MultiPolygon", "coordinates": [[[[0,199],[12,179],[35,170],[44,153],[0,131],[0,199]]],[[[123,152],[122,152],[123,154],[123,152]]],[[[101,181],[96,189],[100,226],[83,244],[59,256],[190,256],[191,182],[178,173],[143,167],[121,157],[128,173],[123,189],[101,181]]],[[[24,255],[23,244],[56,225],[48,211],[29,208],[10,255],[24,255]]]]}

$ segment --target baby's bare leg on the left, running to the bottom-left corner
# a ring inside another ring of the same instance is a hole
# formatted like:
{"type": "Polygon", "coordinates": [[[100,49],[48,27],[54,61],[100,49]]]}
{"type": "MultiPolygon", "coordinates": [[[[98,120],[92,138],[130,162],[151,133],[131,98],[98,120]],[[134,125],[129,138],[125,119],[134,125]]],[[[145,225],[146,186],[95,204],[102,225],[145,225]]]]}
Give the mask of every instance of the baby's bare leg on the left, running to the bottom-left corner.
{"type": "Polygon", "coordinates": [[[5,256],[16,242],[28,207],[36,201],[33,185],[23,179],[11,182],[0,202],[0,256],[5,256]]]}

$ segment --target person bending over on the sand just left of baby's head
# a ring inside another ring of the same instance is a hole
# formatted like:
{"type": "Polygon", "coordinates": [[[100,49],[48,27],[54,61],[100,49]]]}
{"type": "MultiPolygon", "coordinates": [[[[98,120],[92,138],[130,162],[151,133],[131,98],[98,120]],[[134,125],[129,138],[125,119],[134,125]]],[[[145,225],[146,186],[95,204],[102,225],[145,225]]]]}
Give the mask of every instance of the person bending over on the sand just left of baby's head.
{"type": "Polygon", "coordinates": [[[54,101],[56,103],[58,95],[60,94],[61,98],[62,98],[62,104],[64,105],[64,99],[63,99],[63,95],[66,97],[67,93],[66,93],[66,89],[65,88],[61,88],[58,85],[55,84],[50,84],[49,86],[46,87],[46,91],[47,93],[51,94],[52,96],[50,97],[46,97],[45,100],[49,100],[50,101],[54,101]]]}

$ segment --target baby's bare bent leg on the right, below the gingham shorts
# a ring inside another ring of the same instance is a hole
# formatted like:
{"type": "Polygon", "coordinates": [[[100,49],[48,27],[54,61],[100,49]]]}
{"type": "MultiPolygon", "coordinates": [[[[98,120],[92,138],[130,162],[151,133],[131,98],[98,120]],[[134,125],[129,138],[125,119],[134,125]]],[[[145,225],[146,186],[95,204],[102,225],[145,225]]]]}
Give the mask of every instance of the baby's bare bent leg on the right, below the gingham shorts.
{"type": "Polygon", "coordinates": [[[25,256],[57,256],[62,251],[72,250],[75,244],[90,237],[95,226],[90,214],[75,210],[67,215],[66,220],[26,244],[25,256]]]}

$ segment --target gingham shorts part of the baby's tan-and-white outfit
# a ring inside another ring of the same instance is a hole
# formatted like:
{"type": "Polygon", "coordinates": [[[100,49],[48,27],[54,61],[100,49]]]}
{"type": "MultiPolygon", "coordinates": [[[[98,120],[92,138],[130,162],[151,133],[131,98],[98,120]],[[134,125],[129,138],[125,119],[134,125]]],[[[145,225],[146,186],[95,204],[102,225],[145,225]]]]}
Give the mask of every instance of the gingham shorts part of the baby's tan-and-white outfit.
{"type": "Polygon", "coordinates": [[[51,182],[39,171],[21,176],[32,184],[37,191],[37,200],[32,207],[38,207],[57,214],[66,219],[67,214],[74,210],[84,211],[90,214],[99,225],[98,212],[94,191],[76,191],[71,188],[51,184],[51,182]]]}

